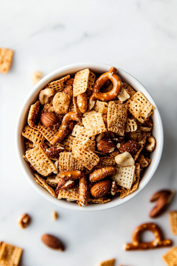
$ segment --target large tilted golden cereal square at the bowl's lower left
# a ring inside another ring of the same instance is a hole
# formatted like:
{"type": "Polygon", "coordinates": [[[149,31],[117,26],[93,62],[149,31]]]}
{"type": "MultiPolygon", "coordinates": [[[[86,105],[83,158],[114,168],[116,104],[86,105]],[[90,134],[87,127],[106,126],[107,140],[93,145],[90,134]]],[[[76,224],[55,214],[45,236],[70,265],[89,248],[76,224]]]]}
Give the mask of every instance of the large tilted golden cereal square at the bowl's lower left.
{"type": "Polygon", "coordinates": [[[42,176],[48,176],[53,171],[57,170],[40,146],[26,151],[26,157],[34,169],[42,176]]]}

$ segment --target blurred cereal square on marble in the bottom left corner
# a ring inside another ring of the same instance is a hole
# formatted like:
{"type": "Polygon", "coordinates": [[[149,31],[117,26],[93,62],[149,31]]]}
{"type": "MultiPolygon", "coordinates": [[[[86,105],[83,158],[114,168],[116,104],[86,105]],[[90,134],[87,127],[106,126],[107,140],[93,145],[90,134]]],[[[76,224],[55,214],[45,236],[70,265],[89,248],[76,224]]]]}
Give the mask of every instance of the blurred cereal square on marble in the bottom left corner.
{"type": "Polygon", "coordinates": [[[5,242],[0,243],[0,265],[18,266],[23,249],[5,242]]]}

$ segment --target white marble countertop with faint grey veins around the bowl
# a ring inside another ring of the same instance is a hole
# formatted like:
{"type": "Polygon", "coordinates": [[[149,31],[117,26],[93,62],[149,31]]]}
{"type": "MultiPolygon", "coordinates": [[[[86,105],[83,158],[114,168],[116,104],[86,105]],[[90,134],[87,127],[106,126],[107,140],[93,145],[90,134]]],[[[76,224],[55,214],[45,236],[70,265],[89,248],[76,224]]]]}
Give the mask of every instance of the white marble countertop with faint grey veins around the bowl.
{"type": "MultiPolygon", "coordinates": [[[[1,0],[0,47],[15,51],[12,68],[0,74],[1,182],[0,241],[24,248],[22,266],[94,266],[116,258],[116,266],[163,266],[163,248],[125,252],[133,229],[148,217],[149,199],[161,188],[177,189],[176,179],[176,70],[177,2],[175,0],[1,0]],[[30,76],[44,76],[64,65],[103,62],[135,76],[151,93],[164,126],[164,149],[159,167],[149,184],[131,201],[101,212],[76,212],[55,206],[28,183],[16,158],[14,131],[25,97],[32,89],[30,76]],[[56,210],[59,219],[51,221],[56,210]],[[21,230],[20,214],[32,217],[21,230]],[[58,236],[63,253],[46,248],[44,233],[58,236]]],[[[176,197],[169,209],[177,209],[176,197]]],[[[166,238],[174,240],[168,215],[155,220],[166,238]]],[[[146,234],[146,240],[152,235],[146,234]]]]}

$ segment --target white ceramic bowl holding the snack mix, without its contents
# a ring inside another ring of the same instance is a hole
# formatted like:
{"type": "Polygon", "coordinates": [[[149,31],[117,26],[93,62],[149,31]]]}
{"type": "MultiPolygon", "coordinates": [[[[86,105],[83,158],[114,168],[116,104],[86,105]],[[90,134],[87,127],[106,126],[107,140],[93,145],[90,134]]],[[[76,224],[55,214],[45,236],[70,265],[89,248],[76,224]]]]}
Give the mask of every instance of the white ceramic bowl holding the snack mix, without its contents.
{"type": "Polygon", "coordinates": [[[133,192],[132,194],[128,195],[127,197],[124,197],[123,199],[120,199],[120,197],[115,197],[111,201],[105,203],[105,204],[88,204],[87,206],[80,207],[76,202],[68,202],[64,199],[58,200],[57,198],[53,197],[48,191],[46,191],[44,188],[42,188],[40,185],[34,181],[34,173],[32,169],[30,168],[29,164],[23,159],[23,155],[25,154],[25,146],[24,146],[24,138],[21,135],[21,132],[24,128],[24,126],[27,124],[27,118],[28,118],[28,112],[30,106],[38,99],[38,95],[40,90],[44,89],[45,86],[50,83],[51,81],[58,80],[61,77],[64,77],[68,74],[75,74],[77,71],[85,68],[89,68],[94,73],[102,74],[112,67],[112,65],[107,65],[103,63],[78,63],[73,65],[64,66],[62,68],[59,68],[55,70],[54,72],[50,73],[46,77],[44,77],[41,81],[39,81],[32,91],[29,93],[28,97],[25,99],[23,106],[21,107],[17,124],[16,124],[16,151],[18,155],[18,159],[21,165],[21,168],[27,177],[28,181],[31,183],[31,185],[46,199],[49,201],[57,204],[58,206],[71,209],[71,210],[79,210],[79,211],[100,211],[100,210],[106,210],[110,209],[116,206],[119,206],[123,204],[124,202],[127,202],[131,198],[135,197],[149,182],[149,180],[152,178],[153,174],[155,173],[159,161],[161,159],[162,155],[162,149],[163,149],[163,127],[162,127],[162,120],[158,111],[158,108],[156,106],[156,103],[154,102],[152,96],[149,94],[149,92],[145,89],[145,87],[133,76],[128,74],[122,69],[118,69],[117,74],[121,78],[122,81],[127,82],[129,85],[131,85],[136,91],[141,91],[144,96],[148,99],[150,103],[155,107],[152,118],[153,118],[153,136],[156,138],[156,148],[154,151],[150,154],[150,157],[152,159],[151,164],[147,167],[143,179],[141,180],[138,189],[133,192]]]}

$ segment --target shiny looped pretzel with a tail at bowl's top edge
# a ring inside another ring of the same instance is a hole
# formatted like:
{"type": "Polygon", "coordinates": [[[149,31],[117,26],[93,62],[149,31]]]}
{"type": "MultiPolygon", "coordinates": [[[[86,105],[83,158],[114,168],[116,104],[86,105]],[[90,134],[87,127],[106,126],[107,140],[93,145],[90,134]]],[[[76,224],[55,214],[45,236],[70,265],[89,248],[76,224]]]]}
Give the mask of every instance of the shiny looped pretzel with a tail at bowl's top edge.
{"type": "Polygon", "coordinates": [[[111,67],[109,72],[102,74],[93,85],[93,93],[88,102],[87,112],[90,111],[96,104],[96,100],[99,99],[101,101],[110,101],[115,99],[122,89],[122,81],[115,74],[117,69],[115,67],[111,67]],[[111,80],[113,82],[113,89],[110,92],[102,93],[100,92],[102,86],[106,81],[111,80]]]}

